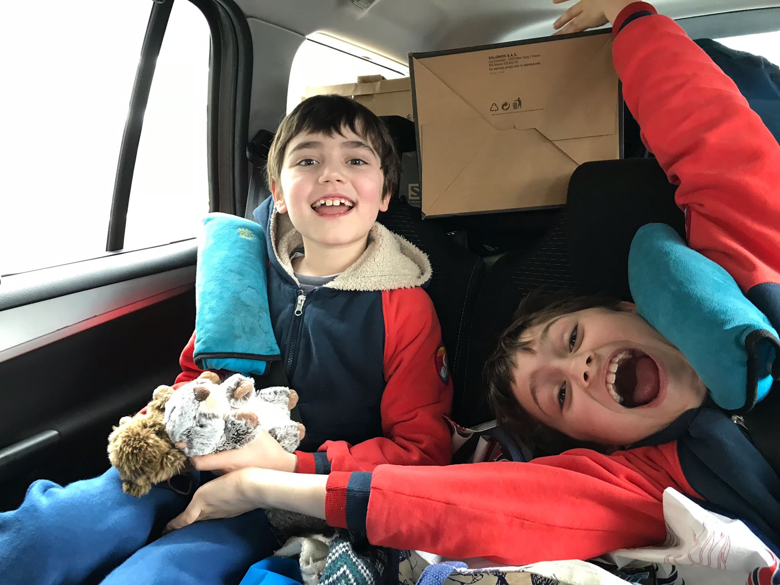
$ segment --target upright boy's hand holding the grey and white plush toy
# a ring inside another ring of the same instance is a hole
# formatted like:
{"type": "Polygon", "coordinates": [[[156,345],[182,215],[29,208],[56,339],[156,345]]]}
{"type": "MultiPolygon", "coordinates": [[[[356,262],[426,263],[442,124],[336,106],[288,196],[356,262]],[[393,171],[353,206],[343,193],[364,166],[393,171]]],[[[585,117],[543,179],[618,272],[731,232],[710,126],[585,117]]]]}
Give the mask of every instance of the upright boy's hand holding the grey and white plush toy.
{"type": "Polygon", "coordinates": [[[282,445],[264,430],[260,431],[254,441],[241,449],[195,456],[190,460],[197,470],[221,473],[240,470],[243,467],[292,472],[298,465],[298,458],[282,449],[282,445]]]}

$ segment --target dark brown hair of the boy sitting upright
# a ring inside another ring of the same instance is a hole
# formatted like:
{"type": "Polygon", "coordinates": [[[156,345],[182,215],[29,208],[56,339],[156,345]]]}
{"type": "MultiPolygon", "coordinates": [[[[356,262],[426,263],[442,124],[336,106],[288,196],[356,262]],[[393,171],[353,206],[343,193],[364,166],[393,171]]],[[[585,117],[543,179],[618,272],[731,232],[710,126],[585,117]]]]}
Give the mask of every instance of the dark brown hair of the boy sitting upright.
{"type": "Polygon", "coordinates": [[[296,105],[279,125],[268,150],[268,186],[279,182],[285,151],[300,133],[323,133],[332,137],[349,128],[368,141],[376,151],[385,176],[382,197],[392,197],[398,190],[401,161],[385,122],[364,105],[341,95],[315,95],[296,105]]]}

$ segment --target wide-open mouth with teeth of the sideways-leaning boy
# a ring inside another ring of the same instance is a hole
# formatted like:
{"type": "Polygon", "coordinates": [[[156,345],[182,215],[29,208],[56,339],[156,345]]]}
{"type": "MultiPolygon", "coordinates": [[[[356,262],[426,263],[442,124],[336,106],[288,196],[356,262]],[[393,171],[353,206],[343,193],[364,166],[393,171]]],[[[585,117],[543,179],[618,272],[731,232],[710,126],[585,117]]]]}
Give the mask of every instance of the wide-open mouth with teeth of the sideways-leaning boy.
{"type": "Polygon", "coordinates": [[[658,398],[661,377],[658,365],[639,349],[623,349],[607,364],[607,392],[620,406],[636,408],[658,398]]]}

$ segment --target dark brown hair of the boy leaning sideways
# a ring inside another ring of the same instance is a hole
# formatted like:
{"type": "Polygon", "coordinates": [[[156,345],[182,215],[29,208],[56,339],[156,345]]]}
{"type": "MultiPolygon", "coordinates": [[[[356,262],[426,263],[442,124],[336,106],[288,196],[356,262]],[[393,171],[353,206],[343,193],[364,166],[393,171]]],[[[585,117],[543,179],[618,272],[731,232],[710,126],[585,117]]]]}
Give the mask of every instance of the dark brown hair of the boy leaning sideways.
{"type": "Polygon", "coordinates": [[[498,347],[485,364],[488,400],[498,426],[518,441],[542,455],[555,455],[585,447],[601,451],[604,445],[577,441],[531,417],[515,398],[514,381],[518,352],[533,353],[530,328],[579,310],[603,307],[620,310],[620,301],[607,295],[576,295],[537,289],[529,293],[517,307],[512,324],[498,338],[498,347]]]}

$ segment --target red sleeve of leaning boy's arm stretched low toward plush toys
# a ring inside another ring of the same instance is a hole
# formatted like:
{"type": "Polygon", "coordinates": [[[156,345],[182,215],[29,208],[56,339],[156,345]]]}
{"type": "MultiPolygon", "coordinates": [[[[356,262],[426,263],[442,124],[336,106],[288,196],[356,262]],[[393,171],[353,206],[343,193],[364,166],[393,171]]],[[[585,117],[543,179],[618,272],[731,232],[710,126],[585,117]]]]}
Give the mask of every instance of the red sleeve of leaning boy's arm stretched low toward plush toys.
{"type": "MultiPolygon", "coordinates": [[[[360,530],[348,490],[360,475],[328,477],[332,525],[348,527],[349,519],[349,528],[360,530]]],[[[368,540],[380,546],[505,565],[584,559],[663,541],[669,487],[699,497],[674,442],[612,456],[575,449],[530,463],[379,466],[362,518],[368,540]]]]}

